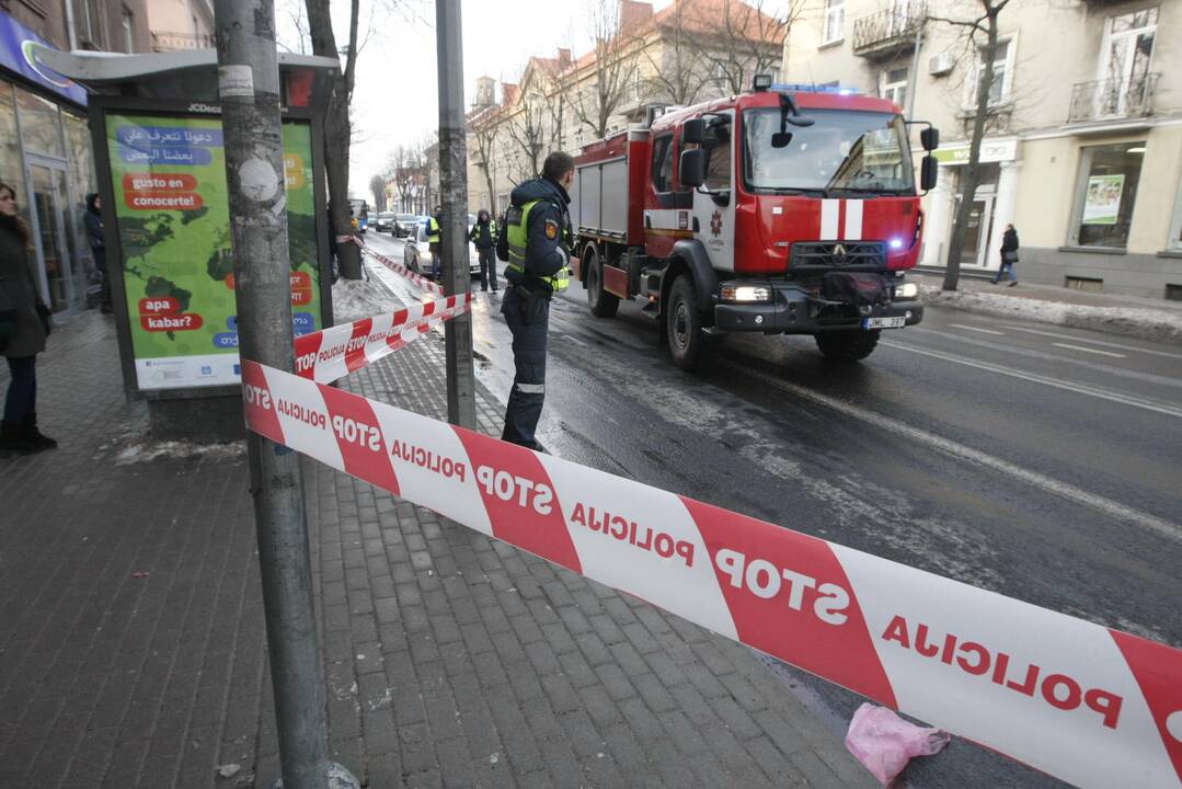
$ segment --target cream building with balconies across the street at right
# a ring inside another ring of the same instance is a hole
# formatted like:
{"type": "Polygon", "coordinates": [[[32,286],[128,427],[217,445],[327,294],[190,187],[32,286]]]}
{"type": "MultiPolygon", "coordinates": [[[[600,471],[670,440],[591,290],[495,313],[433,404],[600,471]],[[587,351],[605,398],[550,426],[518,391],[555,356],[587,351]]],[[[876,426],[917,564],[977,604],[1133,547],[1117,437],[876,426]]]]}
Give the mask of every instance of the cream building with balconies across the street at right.
{"type": "MultiPolygon", "coordinates": [[[[968,0],[808,0],[787,82],[894,99],[942,134],[921,264],[947,265],[982,41],[968,0]]],[[[1182,298],[1182,0],[1021,0],[999,17],[981,182],[961,266],[992,272],[1007,224],[1024,280],[1182,298]]]]}

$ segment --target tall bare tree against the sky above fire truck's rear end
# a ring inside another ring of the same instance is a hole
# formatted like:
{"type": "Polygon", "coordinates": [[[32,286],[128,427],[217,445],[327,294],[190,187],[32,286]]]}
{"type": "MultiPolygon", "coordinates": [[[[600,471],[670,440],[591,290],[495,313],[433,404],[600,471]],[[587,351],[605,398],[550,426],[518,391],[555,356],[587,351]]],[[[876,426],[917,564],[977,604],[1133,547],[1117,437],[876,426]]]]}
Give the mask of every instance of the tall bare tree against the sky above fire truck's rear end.
{"type": "Polygon", "coordinates": [[[611,116],[623,103],[628,77],[636,66],[631,52],[634,40],[621,27],[619,6],[615,0],[596,0],[587,27],[595,37],[591,84],[580,89],[577,69],[571,75],[576,80],[573,109],[579,123],[599,137],[606,137],[611,116]]]}

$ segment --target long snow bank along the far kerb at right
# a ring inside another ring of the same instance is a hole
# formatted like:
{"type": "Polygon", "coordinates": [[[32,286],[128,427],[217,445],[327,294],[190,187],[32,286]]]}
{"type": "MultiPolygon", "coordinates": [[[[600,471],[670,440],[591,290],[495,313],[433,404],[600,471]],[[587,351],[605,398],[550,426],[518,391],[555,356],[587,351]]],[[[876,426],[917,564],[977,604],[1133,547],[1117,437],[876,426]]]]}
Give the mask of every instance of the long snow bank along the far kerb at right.
{"type": "Polygon", "coordinates": [[[1037,321],[1077,329],[1096,329],[1110,334],[1182,344],[1182,315],[1165,310],[1135,306],[1092,306],[1063,304],[1020,296],[944,291],[923,283],[923,300],[936,306],[952,306],[1018,321],[1037,321]]]}

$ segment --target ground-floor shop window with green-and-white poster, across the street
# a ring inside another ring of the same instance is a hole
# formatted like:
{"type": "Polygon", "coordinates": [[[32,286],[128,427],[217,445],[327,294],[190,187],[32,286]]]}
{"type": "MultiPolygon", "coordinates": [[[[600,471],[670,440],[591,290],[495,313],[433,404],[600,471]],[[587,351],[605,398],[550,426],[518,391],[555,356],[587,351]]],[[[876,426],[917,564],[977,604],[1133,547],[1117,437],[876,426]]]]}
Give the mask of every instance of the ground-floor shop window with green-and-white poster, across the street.
{"type": "Polygon", "coordinates": [[[1144,157],[1144,141],[1080,149],[1072,245],[1117,250],[1129,245],[1129,226],[1144,157]]]}

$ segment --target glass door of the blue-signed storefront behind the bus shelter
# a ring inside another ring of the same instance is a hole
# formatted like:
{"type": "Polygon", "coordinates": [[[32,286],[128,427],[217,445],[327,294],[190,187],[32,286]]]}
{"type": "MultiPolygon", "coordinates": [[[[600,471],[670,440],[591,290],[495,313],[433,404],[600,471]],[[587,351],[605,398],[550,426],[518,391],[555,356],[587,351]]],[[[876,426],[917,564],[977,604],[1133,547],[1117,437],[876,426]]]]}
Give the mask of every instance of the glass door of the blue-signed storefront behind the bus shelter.
{"type": "Polygon", "coordinates": [[[30,161],[26,179],[33,235],[43,263],[41,295],[54,312],[70,310],[74,287],[66,246],[66,170],[61,164],[30,161]]]}

